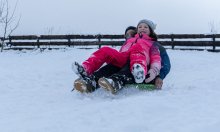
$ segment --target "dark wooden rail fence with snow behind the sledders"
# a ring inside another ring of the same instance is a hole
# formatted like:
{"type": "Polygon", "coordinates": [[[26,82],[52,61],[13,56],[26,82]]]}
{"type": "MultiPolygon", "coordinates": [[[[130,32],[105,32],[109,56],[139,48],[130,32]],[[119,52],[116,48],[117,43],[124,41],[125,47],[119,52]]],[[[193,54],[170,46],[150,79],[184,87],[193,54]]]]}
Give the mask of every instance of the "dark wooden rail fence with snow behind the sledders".
{"type": "MultiPolygon", "coordinates": [[[[211,46],[212,51],[217,51],[216,47],[220,46],[220,34],[160,34],[158,35],[159,43],[163,46],[211,46]],[[202,39],[209,40],[202,40],[202,39]],[[184,39],[184,40],[183,40],[184,39]],[[190,39],[190,40],[189,40],[190,39]],[[192,40],[193,39],[193,40],[192,40]],[[199,40],[198,40],[199,39],[199,40]]],[[[1,38],[2,39],[2,38],[1,38]]],[[[26,35],[26,36],[9,36],[6,44],[11,48],[16,46],[36,46],[41,48],[45,45],[57,46],[121,46],[124,42],[124,35],[26,35]],[[25,40],[26,42],[21,42],[25,40]],[[88,40],[88,41],[87,41],[88,40]]]]}

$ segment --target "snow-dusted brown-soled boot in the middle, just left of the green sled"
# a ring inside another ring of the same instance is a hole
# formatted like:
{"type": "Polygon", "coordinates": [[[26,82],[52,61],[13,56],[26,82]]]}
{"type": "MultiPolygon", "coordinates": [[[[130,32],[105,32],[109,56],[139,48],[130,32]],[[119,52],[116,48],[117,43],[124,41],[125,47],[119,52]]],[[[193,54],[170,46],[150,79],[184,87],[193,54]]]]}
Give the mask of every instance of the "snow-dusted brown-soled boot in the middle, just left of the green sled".
{"type": "Polygon", "coordinates": [[[116,94],[121,89],[120,83],[115,78],[100,78],[98,83],[101,88],[110,91],[112,94],[116,94]]]}

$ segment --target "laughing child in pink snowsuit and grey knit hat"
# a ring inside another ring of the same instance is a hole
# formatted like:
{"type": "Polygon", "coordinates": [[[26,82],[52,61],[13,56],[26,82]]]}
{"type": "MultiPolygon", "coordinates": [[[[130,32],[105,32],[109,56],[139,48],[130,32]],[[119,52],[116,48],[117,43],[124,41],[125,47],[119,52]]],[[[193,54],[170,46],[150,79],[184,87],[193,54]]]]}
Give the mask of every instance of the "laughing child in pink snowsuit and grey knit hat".
{"type": "Polygon", "coordinates": [[[123,67],[130,60],[131,72],[134,75],[135,82],[142,83],[147,74],[149,74],[148,81],[150,82],[159,74],[161,58],[157,45],[154,45],[153,39],[149,37],[149,26],[151,29],[155,29],[152,21],[141,20],[138,23],[135,37],[128,39],[119,52],[110,47],[102,47],[84,61],[82,66],[74,62],[72,64],[73,70],[82,77],[83,75],[92,74],[105,62],[123,67]],[[151,69],[148,71],[147,65],[149,64],[151,65],[151,69]]]}

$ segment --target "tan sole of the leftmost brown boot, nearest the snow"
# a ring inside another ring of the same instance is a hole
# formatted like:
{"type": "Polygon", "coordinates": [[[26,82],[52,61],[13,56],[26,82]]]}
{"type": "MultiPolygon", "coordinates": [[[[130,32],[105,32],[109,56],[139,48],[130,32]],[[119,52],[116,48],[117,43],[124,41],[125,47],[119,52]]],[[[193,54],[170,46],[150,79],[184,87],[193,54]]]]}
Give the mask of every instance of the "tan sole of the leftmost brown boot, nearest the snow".
{"type": "Polygon", "coordinates": [[[85,82],[83,82],[81,79],[76,79],[74,81],[74,89],[76,89],[77,91],[80,91],[81,93],[90,93],[89,90],[87,89],[87,85],[85,82]]]}

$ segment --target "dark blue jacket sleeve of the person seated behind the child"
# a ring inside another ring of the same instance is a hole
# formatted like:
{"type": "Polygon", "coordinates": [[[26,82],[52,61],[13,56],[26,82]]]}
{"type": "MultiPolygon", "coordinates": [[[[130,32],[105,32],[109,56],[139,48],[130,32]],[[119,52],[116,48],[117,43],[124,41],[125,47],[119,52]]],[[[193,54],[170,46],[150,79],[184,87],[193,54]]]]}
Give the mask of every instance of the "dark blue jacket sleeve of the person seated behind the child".
{"type": "Polygon", "coordinates": [[[166,75],[170,72],[170,68],[171,68],[170,58],[165,48],[159,43],[156,44],[159,47],[160,57],[161,57],[161,69],[160,69],[160,74],[157,77],[163,80],[166,77],[166,75]]]}

